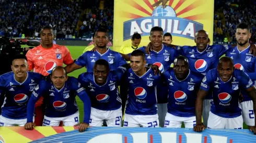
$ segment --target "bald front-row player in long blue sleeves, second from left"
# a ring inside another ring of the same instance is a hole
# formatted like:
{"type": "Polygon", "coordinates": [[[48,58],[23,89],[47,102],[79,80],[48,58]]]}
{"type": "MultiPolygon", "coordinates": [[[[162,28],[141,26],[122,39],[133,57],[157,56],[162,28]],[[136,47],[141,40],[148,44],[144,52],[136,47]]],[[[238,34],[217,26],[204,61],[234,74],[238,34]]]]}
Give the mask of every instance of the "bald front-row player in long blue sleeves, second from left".
{"type": "Polygon", "coordinates": [[[89,126],[90,119],[90,98],[85,88],[75,77],[67,77],[65,69],[57,66],[52,70],[51,81],[42,80],[33,90],[28,102],[28,117],[25,129],[32,129],[34,104],[41,97],[45,96],[46,110],[43,126],[59,126],[63,121],[64,126],[79,124],[79,112],[76,103],[76,95],[84,102],[84,122],[79,124],[79,131],[83,132],[89,126]]]}

